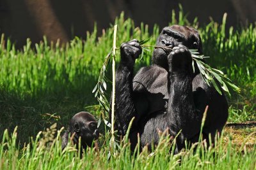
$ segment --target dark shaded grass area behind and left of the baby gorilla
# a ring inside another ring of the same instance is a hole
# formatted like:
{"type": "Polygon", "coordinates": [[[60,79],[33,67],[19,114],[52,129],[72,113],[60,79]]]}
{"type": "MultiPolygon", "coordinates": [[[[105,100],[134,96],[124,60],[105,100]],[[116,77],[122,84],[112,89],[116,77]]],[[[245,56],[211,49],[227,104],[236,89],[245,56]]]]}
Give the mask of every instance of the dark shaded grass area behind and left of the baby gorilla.
{"type": "Polygon", "coordinates": [[[30,136],[36,136],[54,123],[58,128],[66,127],[70,118],[86,106],[97,104],[92,94],[93,78],[86,78],[84,86],[61,86],[54,84],[53,90],[42,90],[35,95],[8,91],[0,88],[0,141],[4,129],[13,132],[18,126],[18,141],[28,143],[30,136]]]}

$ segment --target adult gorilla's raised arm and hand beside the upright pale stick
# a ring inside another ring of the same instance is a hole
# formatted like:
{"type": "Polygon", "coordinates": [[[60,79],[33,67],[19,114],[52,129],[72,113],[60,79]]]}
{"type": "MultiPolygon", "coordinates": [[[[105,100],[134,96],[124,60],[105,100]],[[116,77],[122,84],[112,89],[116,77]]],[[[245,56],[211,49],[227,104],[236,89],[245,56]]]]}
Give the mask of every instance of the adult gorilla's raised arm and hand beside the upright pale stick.
{"type": "Polygon", "coordinates": [[[115,126],[124,135],[131,118],[136,113],[134,93],[132,90],[133,66],[141,53],[137,40],[122,43],[120,47],[121,61],[116,70],[115,126]]]}

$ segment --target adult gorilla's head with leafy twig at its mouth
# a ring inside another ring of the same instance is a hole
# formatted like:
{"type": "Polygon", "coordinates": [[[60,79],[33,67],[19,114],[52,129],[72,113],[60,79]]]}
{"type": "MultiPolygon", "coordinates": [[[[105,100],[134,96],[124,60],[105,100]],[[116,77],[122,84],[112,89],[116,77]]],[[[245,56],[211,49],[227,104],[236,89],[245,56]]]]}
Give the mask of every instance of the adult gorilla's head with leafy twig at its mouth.
{"type": "MultiPolygon", "coordinates": [[[[173,48],[178,45],[184,45],[189,49],[196,49],[199,53],[202,53],[202,42],[196,29],[180,25],[164,27],[157,39],[156,46],[173,48]]],[[[167,69],[167,56],[170,52],[172,52],[172,50],[155,48],[152,57],[153,63],[167,69]]]]}

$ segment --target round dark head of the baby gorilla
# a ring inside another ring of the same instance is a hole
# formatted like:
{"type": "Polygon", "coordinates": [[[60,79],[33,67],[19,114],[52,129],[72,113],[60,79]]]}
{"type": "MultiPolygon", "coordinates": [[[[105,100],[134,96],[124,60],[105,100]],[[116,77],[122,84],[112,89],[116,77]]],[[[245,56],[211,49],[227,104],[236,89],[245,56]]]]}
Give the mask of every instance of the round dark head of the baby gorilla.
{"type": "Polygon", "coordinates": [[[92,146],[93,139],[99,138],[97,121],[90,113],[81,111],[70,120],[70,132],[76,132],[77,137],[81,137],[82,146],[92,146]]]}

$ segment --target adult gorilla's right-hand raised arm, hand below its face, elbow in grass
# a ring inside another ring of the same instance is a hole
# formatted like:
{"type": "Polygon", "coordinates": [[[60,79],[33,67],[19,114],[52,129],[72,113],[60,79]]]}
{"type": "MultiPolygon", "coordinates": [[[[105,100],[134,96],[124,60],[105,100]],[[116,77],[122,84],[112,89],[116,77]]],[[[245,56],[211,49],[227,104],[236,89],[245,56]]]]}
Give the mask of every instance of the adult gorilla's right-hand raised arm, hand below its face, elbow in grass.
{"type": "Polygon", "coordinates": [[[170,131],[174,136],[180,130],[177,141],[178,149],[184,147],[184,140],[195,138],[200,132],[202,113],[196,111],[193,99],[193,69],[191,53],[186,46],[173,48],[168,55],[169,64],[169,102],[168,117],[170,131]]]}

